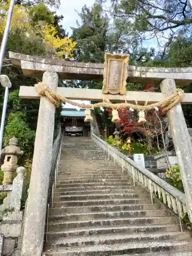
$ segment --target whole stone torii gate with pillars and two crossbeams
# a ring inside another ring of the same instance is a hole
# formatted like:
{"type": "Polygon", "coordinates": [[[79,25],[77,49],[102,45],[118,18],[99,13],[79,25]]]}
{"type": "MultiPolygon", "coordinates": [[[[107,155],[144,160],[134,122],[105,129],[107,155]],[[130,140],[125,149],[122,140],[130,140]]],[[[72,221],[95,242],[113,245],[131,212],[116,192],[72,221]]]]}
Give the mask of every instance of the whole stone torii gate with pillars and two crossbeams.
{"type": "MultiPolygon", "coordinates": [[[[102,90],[58,88],[62,79],[102,80],[103,64],[79,63],[9,53],[14,67],[21,68],[24,75],[42,78],[48,88],[69,99],[102,101],[102,90]]],[[[105,95],[115,102],[159,102],[172,95],[176,85],[192,81],[192,68],[145,68],[129,67],[128,82],[160,85],[161,93],[130,92],[125,95],[105,95]]],[[[49,187],[50,161],[53,143],[55,105],[44,96],[39,96],[34,87],[20,87],[20,98],[40,99],[36,129],[31,181],[23,238],[23,256],[40,256],[44,241],[46,204],[49,187]]],[[[182,104],[192,103],[192,94],[184,94],[182,104]]],[[[186,206],[192,221],[192,147],[181,104],[167,112],[170,132],[181,168],[186,194],[186,206]]]]}

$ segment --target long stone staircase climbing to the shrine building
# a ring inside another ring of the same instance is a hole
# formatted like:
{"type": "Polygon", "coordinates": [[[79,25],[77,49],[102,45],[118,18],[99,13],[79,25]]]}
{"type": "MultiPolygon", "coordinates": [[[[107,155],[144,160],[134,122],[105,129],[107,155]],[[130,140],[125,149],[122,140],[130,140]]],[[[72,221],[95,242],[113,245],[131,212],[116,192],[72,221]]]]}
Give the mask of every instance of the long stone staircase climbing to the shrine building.
{"type": "Polygon", "coordinates": [[[191,256],[190,233],[180,230],[90,139],[63,138],[44,256],[191,256]]]}

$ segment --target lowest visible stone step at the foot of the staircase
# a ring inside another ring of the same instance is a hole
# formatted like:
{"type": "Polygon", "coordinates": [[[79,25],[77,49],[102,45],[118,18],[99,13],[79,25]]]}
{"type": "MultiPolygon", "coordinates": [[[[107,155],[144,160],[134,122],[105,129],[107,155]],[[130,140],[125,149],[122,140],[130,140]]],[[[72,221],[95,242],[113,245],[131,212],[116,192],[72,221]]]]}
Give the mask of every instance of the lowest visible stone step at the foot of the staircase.
{"type": "Polygon", "coordinates": [[[114,254],[135,254],[160,251],[183,251],[191,249],[190,241],[164,240],[164,241],[138,241],[129,243],[119,243],[111,245],[93,245],[81,247],[60,247],[45,252],[43,255],[52,256],[103,256],[114,254]]]}

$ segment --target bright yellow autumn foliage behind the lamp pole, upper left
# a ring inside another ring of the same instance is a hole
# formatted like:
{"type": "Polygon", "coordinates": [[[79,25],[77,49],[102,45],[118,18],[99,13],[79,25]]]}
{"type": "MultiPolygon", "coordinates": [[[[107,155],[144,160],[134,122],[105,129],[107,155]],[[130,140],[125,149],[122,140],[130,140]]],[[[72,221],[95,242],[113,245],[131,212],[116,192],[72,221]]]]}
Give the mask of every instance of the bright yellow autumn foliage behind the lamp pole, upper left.
{"type": "MultiPolygon", "coordinates": [[[[0,3],[0,9],[2,10],[0,14],[0,34],[4,33],[9,4],[10,0],[6,3],[2,1],[0,3]]],[[[75,50],[76,42],[67,37],[60,38],[54,25],[48,24],[45,21],[39,21],[38,24],[34,25],[28,14],[28,9],[24,6],[15,5],[11,20],[11,32],[17,33],[18,30],[22,30],[28,37],[34,37],[35,35],[38,38],[40,36],[46,45],[47,54],[52,58],[71,58],[71,52],[75,50]]]]}

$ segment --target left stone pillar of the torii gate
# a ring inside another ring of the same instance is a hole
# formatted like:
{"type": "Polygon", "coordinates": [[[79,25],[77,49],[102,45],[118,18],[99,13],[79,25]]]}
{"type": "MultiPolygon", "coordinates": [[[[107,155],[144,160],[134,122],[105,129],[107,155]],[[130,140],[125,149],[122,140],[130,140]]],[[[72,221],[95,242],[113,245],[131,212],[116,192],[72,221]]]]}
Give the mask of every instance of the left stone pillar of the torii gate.
{"type": "MultiPolygon", "coordinates": [[[[45,72],[42,82],[51,90],[56,91],[58,86],[57,73],[45,72]]],[[[54,122],[55,105],[47,97],[40,97],[27,214],[24,226],[23,256],[40,256],[42,253],[54,122]]]]}

